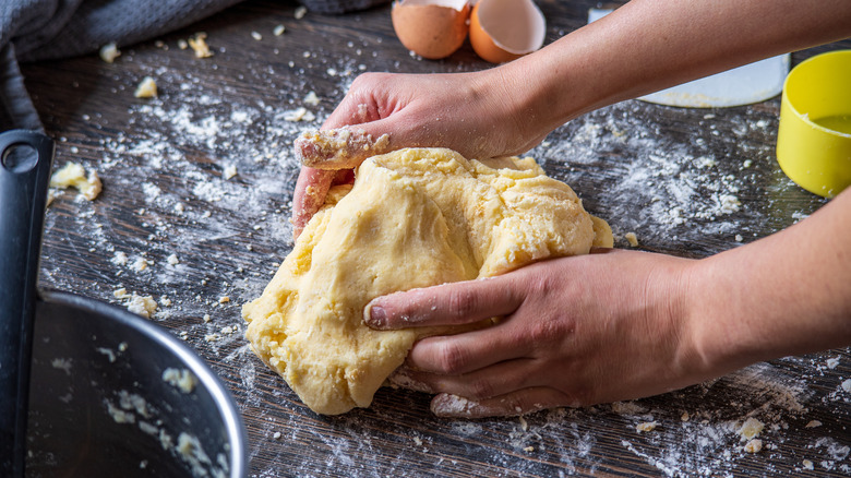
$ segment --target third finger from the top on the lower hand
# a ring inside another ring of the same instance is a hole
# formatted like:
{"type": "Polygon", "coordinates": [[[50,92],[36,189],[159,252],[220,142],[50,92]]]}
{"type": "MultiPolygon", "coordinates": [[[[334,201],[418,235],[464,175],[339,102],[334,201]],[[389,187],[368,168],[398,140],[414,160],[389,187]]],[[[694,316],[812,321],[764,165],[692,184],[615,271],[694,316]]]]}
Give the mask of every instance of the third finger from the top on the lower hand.
{"type": "Polygon", "coordinates": [[[486,399],[540,385],[541,371],[528,358],[506,359],[460,375],[430,373],[403,366],[391,375],[392,383],[427,393],[446,393],[470,399],[486,399]]]}

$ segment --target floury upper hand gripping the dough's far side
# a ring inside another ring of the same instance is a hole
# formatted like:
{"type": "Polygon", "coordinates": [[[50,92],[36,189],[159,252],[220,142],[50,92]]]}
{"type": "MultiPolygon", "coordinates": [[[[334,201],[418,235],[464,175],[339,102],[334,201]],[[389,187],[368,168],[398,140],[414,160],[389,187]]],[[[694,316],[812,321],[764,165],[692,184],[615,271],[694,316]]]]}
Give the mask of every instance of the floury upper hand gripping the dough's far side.
{"type": "Polygon", "coordinates": [[[500,68],[476,73],[358,76],[322,126],[347,127],[350,143],[336,160],[301,138],[296,141],[303,167],[292,201],[296,235],[323,205],[334,169],[352,168],[368,156],[403,147],[448,147],[468,158],[524,153],[549,132],[527,117],[518,92],[506,92],[500,68]]]}

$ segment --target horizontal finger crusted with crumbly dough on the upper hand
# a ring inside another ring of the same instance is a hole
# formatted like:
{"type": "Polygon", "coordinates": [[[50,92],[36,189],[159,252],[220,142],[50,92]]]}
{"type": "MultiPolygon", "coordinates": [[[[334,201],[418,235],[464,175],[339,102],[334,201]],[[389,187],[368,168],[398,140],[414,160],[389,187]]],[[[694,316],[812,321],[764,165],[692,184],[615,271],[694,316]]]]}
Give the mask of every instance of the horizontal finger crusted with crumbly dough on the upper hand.
{"type": "Polygon", "coordinates": [[[296,156],[302,166],[316,169],[350,169],[364,159],[386,152],[389,136],[377,139],[363,130],[347,127],[305,131],[295,141],[296,156]]]}

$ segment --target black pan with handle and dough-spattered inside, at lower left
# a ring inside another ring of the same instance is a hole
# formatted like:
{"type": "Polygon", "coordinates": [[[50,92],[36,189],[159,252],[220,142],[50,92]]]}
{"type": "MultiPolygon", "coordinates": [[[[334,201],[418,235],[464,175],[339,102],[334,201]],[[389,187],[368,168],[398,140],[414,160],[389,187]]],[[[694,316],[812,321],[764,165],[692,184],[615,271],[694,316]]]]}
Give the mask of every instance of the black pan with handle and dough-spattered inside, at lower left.
{"type": "Polygon", "coordinates": [[[0,476],[247,475],[232,397],[129,311],[37,290],[53,142],[0,133],[0,476]]]}

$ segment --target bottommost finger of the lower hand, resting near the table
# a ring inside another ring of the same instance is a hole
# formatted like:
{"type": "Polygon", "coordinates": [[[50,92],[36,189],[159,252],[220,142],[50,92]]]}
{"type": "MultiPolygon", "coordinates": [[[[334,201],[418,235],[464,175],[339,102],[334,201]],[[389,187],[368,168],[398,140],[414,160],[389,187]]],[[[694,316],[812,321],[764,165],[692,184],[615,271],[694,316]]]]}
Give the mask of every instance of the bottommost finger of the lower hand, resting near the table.
{"type": "Polygon", "coordinates": [[[481,401],[450,394],[440,394],[431,401],[432,414],[445,418],[516,417],[563,406],[575,407],[578,404],[572,404],[558,390],[543,386],[481,401]]]}

